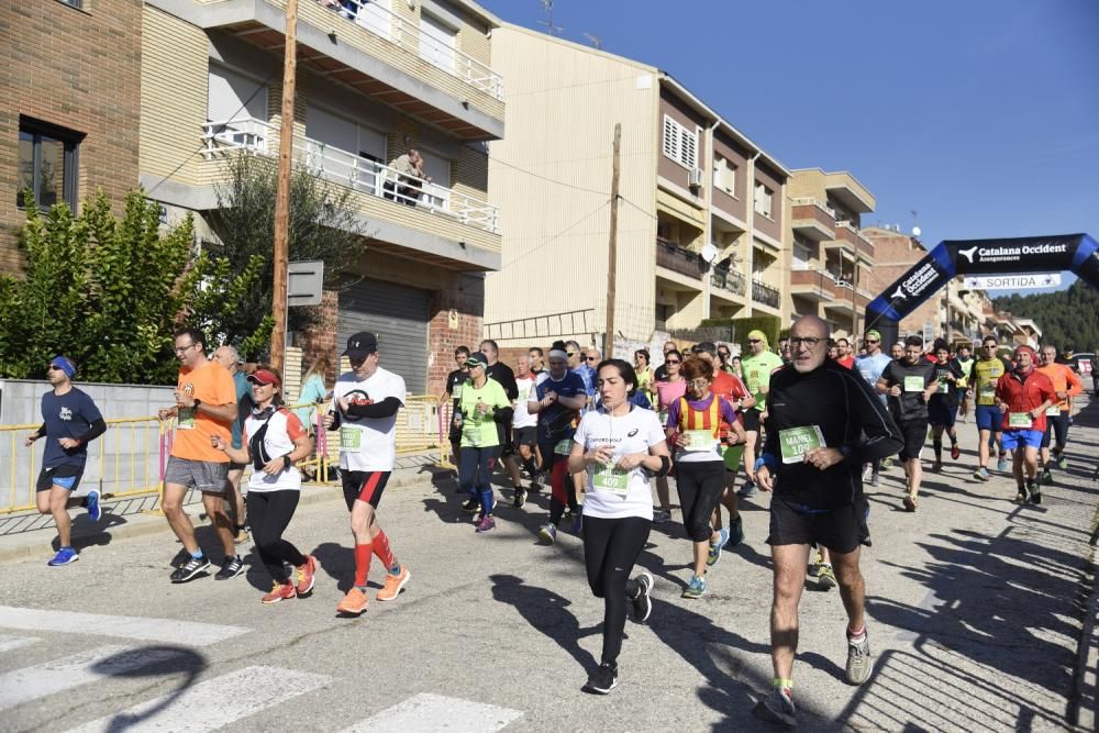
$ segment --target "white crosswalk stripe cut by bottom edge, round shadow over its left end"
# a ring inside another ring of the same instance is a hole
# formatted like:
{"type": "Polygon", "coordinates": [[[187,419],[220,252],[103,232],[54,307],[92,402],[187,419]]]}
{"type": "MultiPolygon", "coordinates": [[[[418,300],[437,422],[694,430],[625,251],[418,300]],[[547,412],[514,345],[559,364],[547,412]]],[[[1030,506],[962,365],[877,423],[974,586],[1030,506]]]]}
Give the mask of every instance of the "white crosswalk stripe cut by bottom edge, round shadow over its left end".
{"type": "Polygon", "coordinates": [[[244,667],[164,695],[114,715],[100,718],[69,733],[156,731],[201,733],[259,712],[332,681],[331,677],[281,667],[244,667]]]}

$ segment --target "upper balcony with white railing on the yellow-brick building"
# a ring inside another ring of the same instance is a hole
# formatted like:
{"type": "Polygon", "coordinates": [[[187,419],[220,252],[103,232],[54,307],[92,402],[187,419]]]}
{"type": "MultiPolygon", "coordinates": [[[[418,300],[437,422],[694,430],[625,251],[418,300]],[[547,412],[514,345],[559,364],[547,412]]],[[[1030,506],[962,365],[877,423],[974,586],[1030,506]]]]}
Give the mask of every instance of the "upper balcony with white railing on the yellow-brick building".
{"type": "MultiPolygon", "coordinates": [[[[287,0],[193,1],[202,10],[196,19],[201,27],[217,27],[281,57],[287,0]]],[[[167,0],[149,2],[171,11],[167,0]]],[[[456,35],[431,32],[415,16],[369,0],[301,0],[298,43],[310,48],[311,69],[326,78],[410,114],[422,113],[460,137],[502,135],[503,78],[459,49],[456,35]],[[448,100],[442,103],[425,87],[448,100]]]]}

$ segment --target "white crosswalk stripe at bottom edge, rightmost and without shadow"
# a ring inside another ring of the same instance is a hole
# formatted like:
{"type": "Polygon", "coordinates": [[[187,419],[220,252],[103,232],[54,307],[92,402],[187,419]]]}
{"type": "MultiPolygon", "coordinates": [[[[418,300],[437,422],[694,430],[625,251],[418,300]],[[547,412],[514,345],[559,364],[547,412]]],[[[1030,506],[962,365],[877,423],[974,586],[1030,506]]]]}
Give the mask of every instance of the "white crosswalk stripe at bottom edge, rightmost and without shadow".
{"type": "Polygon", "coordinates": [[[404,702],[387,708],[342,733],[492,733],[507,726],[523,713],[510,708],[471,702],[442,695],[414,695],[404,702]]]}

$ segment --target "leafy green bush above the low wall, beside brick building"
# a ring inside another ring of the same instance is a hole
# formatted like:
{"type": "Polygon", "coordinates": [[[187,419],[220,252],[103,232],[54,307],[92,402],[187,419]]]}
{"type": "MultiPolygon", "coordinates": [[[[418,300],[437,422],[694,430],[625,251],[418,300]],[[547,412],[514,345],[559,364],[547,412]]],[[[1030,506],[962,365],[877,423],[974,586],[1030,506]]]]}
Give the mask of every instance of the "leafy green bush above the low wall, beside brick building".
{"type": "MultiPolygon", "coordinates": [[[[141,191],[126,197],[121,219],[102,191],[79,215],[64,203],[27,208],[25,277],[0,277],[0,375],[44,377],[63,353],[88,381],[171,384],[174,329],[187,322],[223,334],[262,266],[256,258],[234,271],[223,258],[196,256],[193,238],[189,218],[162,232],[141,191]]],[[[263,342],[270,327],[262,320],[240,341],[263,342]]]]}

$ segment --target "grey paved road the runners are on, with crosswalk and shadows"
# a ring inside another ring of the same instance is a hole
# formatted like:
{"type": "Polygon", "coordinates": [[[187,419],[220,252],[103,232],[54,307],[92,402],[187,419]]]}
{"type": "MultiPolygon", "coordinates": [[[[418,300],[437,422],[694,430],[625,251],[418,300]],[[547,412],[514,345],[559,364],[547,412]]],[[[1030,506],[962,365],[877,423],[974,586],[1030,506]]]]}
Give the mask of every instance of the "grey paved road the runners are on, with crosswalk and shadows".
{"type": "MultiPolygon", "coordinates": [[[[807,591],[795,668],[802,729],[1064,730],[1066,714],[1092,726],[1094,675],[1073,686],[1081,620],[1094,618],[1081,579],[1099,409],[1078,418],[1072,466],[1036,508],[1012,504],[1006,477],[970,481],[976,430],[959,432],[962,460],[928,475],[918,513],[901,511],[897,470],[872,495],[864,568],[876,669],[862,688],[842,681],[839,595],[807,591]]],[[[0,728],[768,730],[750,714],[771,677],[766,498],[747,506],[747,541],[713,568],[702,600],[679,598],[689,578],[679,525],[653,533],[642,557],[656,576],[653,618],[628,624],[620,684],[606,698],[580,692],[602,608],[579,542],[536,543],[542,497],[502,508],[488,535],[458,515],[459,500],[448,481],[387,493],[381,515],[413,577],[397,602],[371,602],[354,620],[334,612],[353,566],[338,500],[301,508],[288,532],[321,560],[315,592],[273,607],[259,603],[262,569],[169,585],[177,545],[164,533],[88,547],[66,568],[9,563],[0,728]]]]}

